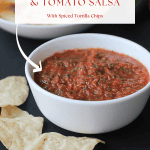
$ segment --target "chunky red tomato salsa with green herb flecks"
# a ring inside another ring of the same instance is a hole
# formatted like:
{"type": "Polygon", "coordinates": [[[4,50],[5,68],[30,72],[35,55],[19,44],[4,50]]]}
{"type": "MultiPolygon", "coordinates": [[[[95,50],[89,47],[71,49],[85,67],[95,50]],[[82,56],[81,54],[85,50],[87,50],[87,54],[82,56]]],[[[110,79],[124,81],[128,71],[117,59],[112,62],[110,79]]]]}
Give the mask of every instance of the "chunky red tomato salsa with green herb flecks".
{"type": "Polygon", "coordinates": [[[111,100],[135,93],[149,82],[148,70],[136,59],[102,48],[65,50],[42,62],[34,74],[43,89],[71,99],[111,100]]]}

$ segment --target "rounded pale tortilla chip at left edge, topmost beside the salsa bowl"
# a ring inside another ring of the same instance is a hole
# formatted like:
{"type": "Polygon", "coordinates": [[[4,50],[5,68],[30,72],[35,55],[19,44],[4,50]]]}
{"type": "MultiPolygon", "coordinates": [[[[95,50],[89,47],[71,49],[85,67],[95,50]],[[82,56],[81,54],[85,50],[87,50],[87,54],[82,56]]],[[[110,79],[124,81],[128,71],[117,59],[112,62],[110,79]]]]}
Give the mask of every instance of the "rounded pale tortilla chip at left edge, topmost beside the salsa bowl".
{"type": "Polygon", "coordinates": [[[0,107],[23,104],[28,93],[29,88],[25,77],[11,76],[0,80],[0,107]]]}

